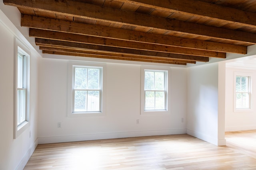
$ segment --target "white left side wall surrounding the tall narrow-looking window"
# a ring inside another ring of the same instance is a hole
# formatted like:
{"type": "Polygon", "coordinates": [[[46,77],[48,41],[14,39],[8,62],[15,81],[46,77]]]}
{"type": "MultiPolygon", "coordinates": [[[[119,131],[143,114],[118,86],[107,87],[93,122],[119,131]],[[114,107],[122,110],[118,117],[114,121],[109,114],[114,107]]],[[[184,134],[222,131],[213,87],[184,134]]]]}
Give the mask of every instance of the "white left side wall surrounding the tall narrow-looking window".
{"type": "Polygon", "coordinates": [[[12,24],[0,10],[0,169],[14,170],[24,168],[37,145],[38,54],[30,56],[30,127],[14,139],[14,43],[19,37],[7,25],[12,24]]]}

